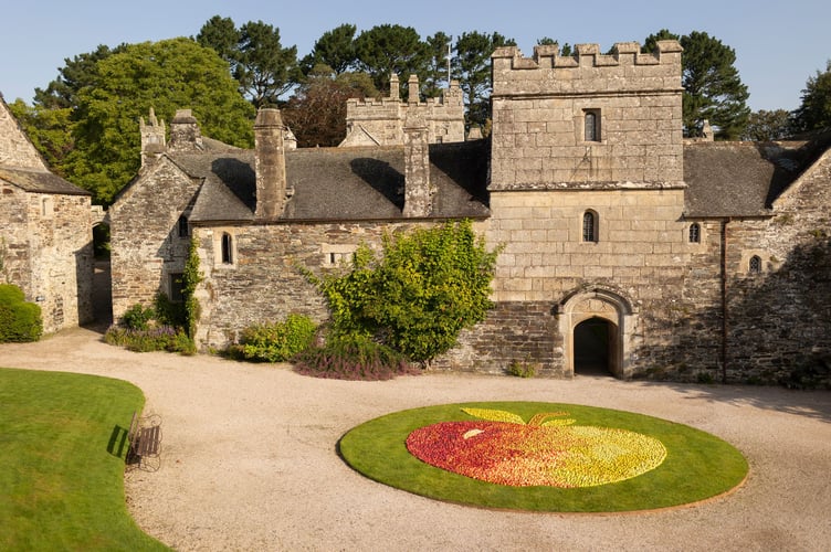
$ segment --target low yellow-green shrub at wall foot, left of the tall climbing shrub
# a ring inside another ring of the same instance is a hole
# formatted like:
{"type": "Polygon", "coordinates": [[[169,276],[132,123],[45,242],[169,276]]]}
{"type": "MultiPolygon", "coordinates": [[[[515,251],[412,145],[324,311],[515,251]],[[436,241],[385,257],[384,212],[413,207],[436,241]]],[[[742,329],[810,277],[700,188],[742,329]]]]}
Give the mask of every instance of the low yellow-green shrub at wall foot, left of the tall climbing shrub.
{"type": "Polygon", "coordinates": [[[240,343],[229,349],[233,358],[255,362],[284,362],[312,343],[317,326],[306,316],[288,315],[284,322],[245,328],[240,343]]]}

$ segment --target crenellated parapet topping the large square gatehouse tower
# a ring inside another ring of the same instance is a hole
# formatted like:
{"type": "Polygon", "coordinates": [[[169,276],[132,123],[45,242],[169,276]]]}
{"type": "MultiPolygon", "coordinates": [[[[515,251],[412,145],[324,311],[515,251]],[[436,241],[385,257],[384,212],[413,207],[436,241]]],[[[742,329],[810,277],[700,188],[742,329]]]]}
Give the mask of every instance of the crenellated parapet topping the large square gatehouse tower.
{"type": "Polygon", "coordinates": [[[642,53],[638,42],[619,42],[610,54],[598,44],[577,44],[574,55],[559,46],[537,45],[532,57],[516,46],[497,49],[491,56],[493,94],[586,94],[598,91],[681,89],[681,52],[677,41],[658,42],[655,53],[642,53]]]}

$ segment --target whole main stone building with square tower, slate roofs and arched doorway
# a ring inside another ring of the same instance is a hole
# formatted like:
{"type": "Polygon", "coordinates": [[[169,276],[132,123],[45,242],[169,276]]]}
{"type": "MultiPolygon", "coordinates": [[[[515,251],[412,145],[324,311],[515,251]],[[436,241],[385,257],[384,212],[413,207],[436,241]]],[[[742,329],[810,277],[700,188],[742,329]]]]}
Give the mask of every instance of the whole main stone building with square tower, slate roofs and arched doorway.
{"type": "Polygon", "coordinates": [[[767,382],[828,370],[831,140],[685,142],[675,41],[654,54],[512,46],[492,63],[490,140],[430,144],[417,112],[401,145],[361,148],[286,151],[276,110],[257,115],[254,151],[171,125],[112,208],[116,316],[176,295],[193,237],[201,347],[293,311],[324,320],[297,264],[326,269],[385,231],[467,217],[504,247],[496,306],[439,368],[767,382]]]}

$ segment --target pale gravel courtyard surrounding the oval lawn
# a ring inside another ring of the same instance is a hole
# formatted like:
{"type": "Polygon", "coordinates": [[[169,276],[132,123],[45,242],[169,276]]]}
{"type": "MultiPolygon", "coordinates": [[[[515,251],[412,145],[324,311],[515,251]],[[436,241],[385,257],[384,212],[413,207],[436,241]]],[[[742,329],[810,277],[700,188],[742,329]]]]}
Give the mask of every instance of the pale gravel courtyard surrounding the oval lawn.
{"type": "Polygon", "coordinates": [[[428,374],[304,378],[284,365],[130,353],[75,329],[0,346],[0,365],[130,381],[164,422],[162,464],[126,476],[138,524],[178,550],[789,550],[831,543],[831,393],[775,388],[428,374]],[[546,514],[442,503],[364,478],[336,454],[355,425],[449,402],[528,400],[627,410],[738,447],[736,492],[638,514],[546,514]]]}

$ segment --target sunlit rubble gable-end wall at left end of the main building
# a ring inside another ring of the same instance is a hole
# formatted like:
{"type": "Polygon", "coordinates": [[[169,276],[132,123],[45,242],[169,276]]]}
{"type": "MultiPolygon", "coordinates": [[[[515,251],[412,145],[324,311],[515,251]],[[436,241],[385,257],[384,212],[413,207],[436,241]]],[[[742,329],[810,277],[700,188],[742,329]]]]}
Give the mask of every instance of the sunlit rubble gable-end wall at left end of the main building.
{"type": "Polygon", "coordinates": [[[152,305],[158,291],[170,296],[170,275],[183,272],[190,245],[178,221],[198,183],[166,158],[141,171],[144,185],[128,188],[109,208],[116,321],[137,302],[152,305]]]}

